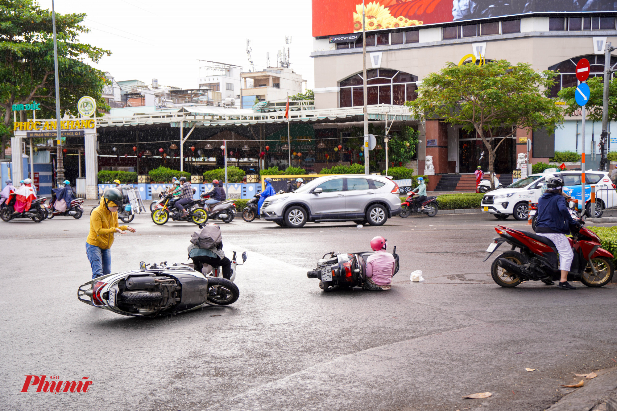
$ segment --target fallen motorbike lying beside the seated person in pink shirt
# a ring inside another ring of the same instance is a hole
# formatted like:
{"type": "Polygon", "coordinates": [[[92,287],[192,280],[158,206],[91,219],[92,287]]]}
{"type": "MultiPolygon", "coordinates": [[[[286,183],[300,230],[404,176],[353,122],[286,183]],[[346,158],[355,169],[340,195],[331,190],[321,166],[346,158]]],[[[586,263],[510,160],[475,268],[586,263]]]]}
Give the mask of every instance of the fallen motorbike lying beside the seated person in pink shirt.
{"type": "MultiPolygon", "coordinates": [[[[318,260],[317,268],[307,272],[307,277],[319,278],[319,288],[326,293],[336,288],[361,287],[366,281],[366,259],[372,254],[375,252],[326,252],[318,260]],[[329,257],[326,258],[326,255],[329,257]]],[[[396,262],[394,268],[394,274],[396,274],[399,272],[399,255],[396,254],[396,246],[392,255],[396,262]]]]}

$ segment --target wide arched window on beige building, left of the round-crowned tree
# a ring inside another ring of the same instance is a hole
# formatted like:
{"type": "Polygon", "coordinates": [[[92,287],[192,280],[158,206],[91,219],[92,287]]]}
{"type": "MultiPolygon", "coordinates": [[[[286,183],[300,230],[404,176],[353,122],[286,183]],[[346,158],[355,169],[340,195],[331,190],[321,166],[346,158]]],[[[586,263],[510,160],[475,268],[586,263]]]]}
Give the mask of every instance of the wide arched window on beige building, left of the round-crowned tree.
{"type": "MultiPolygon", "coordinates": [[[[341,107],[364,105],[362,73],[354,74],[339,83],[341,87],[341,107]]],[[[405,101],[415,100],[418,77],[392,70],[391,68],[371,68],[366,70],[366,96],[368,104],[395,104],[403,106],[405,101]]]]}

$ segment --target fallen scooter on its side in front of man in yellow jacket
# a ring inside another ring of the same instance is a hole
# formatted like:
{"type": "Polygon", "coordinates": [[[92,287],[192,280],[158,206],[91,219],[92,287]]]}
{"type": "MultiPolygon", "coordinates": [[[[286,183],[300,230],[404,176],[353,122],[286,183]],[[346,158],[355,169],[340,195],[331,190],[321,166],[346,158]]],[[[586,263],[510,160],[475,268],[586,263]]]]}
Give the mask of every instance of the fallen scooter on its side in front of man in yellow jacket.
{"type": "MultiPolygon", "coordinates": [[[[235,260],[234,252],[234,260],[235,260]]],[[[243,263],[246,252],[242,254],[243,263]]],[[[234,261],[234,274],[235,265],[234,261]]],[[[86,304],[132,317],[156,317],[200,309],[205,305],[229,305],[240,291],[233,281],[204,275],[192,264],[139,263],[139,270],[107,274],[77,289],[86,304]]]]}

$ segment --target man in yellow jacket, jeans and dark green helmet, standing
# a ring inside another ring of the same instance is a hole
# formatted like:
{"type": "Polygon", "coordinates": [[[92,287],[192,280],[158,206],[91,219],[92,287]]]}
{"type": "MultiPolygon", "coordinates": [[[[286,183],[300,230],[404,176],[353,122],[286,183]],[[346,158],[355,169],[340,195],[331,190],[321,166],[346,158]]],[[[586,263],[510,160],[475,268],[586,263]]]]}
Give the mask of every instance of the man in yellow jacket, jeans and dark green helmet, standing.
{"type": "Polygon", "coordinates": [[[109,188],[101,198],[101,204],[90,215],[90,232],[86,239],[86,255],[92,267],[92,278],[106,275],[112,271],[111,246],[114,233],[126,234],[124,230],[135,233],[128,225],[118,226],[118,204],[122,204],[122,193],[109,188]]]}

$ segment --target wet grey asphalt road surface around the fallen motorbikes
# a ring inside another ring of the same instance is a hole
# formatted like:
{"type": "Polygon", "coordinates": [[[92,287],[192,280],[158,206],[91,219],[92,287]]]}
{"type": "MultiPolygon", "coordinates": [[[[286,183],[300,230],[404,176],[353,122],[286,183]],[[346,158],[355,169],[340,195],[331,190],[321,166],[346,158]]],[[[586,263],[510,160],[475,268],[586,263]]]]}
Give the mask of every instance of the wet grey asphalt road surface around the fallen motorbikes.
{"type": "MultiPolygon", "coordinates": [[[[91,276],[87,213],[0,222],[0,409],[544,410],[571,372],[616,365],[617,286],[500,288],[482,262],[496,222],[438,215],[290,230],[236,218],[221,224],[226,253],[249,255],[238,302],[155,319],[77,300],[91,276]],[[362,251],[376,235],[400,254],[391,291],[324,294],[306,277],[325,252],[362,251]],[[410,282],[416,269],[423,283],[410,282]],[[20,393],[25,375],[93,385],[20,393]],[[492,397],[462,399],[485,391],[492,397]]],[[[196,228],[148,215],[130,225],[138,231],[116,235],[112,272],[185,261],[196,228]]]]}

